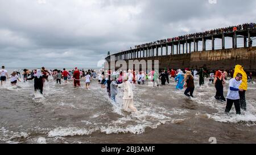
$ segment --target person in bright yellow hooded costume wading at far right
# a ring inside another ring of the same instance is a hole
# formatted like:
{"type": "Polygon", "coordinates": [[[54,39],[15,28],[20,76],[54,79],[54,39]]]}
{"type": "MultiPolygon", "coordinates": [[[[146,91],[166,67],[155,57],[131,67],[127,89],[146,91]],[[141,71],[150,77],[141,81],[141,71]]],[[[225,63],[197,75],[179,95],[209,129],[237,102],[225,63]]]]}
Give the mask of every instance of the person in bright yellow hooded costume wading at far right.
{"type": "Polygon", "coordinates": [[[241,73],[243,76],[242,83],[239,88],[244,90],[243,92],[239,91],[240,106],[241,106],[241,109],[246,110],[245,92],[247,91],[247,88],[248,88],[247,75],[246,75],[246,72],[243,70],[243,66],[241,66],[239,64],[235,67],[233,78],[236,78],[238,73],[241,73]]]}

